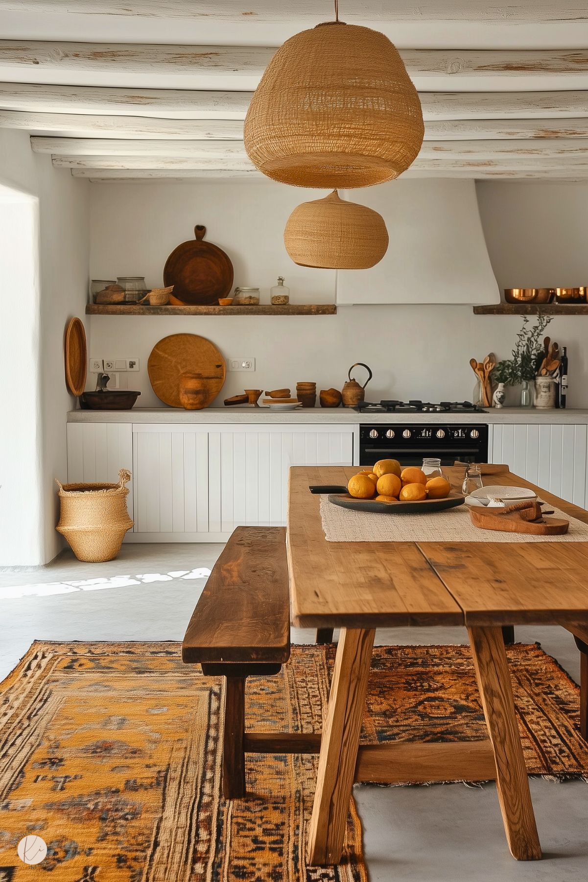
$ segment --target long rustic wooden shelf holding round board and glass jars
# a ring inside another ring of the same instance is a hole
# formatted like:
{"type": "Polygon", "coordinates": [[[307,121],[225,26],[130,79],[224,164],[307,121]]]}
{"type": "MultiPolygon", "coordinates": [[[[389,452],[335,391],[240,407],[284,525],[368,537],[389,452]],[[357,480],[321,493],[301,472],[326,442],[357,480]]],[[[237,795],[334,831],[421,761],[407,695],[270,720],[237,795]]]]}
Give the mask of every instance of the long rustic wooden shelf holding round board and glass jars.
{"type": "Polygon", "coordinates": [[[138,306],[136,303],[88,303],[86,316],[334,316],[334,303],[292,303],[287,306],[138,306]]]}

